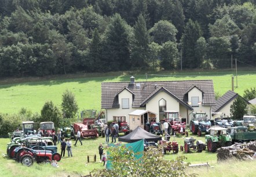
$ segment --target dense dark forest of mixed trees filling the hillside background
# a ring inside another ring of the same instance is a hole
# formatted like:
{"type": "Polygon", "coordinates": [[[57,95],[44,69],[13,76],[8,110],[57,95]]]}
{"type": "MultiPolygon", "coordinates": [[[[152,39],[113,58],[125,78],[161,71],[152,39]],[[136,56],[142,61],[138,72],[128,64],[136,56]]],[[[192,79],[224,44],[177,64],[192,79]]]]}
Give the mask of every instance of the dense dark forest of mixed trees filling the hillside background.
{"type": "Polygon", "coordinates": [[[256,63],[255,0],[1,3],[0,77],[256,63]]]}

